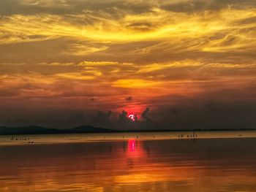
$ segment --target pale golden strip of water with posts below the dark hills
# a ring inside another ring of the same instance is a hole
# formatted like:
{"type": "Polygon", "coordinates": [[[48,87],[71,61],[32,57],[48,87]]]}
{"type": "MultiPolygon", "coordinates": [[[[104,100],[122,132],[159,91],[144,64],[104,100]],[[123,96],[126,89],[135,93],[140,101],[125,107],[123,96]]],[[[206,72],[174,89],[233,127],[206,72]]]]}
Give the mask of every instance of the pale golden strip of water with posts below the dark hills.
{"type": "Polygon", "coordinates": [[[158,140],[200,139],[256,139],[256,130],[236,131],[143,131],[87,134],[23,134],[1,135],[0,146],[4,145],[51,145],[84,142],[129,142],[158,140]]]}

